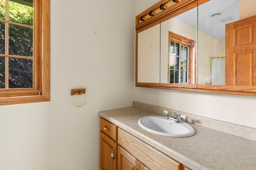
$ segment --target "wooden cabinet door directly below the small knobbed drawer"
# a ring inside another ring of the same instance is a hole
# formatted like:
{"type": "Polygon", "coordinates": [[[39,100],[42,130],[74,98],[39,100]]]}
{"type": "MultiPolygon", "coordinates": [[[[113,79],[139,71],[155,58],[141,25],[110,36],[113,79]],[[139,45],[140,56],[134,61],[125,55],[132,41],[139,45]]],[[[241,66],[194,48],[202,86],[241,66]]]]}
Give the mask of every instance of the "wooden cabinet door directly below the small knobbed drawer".
{"type": "Polygon", "coordinates": [[[116,170],[117,143],[107,136],[104,132],[100,132],[100,170],[116,170]]]}

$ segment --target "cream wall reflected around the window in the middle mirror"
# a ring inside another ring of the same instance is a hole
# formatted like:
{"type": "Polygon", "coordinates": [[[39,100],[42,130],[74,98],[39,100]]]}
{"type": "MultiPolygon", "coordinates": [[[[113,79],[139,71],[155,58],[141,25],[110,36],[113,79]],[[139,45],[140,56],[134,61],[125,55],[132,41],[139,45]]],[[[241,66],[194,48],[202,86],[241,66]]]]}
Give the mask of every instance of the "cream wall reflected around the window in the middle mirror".
{"type": "MultiPolygon", "coordinates": [[[[196,18],[196,16],[195,16],[196,18]]],[[[196,41],[196,29],[187,24],[171,18],[161,23],[161,61],[160,61],[160,82],[168,83],[168,45],[169,32],[174,32],[180,36],[196,41]]]]}

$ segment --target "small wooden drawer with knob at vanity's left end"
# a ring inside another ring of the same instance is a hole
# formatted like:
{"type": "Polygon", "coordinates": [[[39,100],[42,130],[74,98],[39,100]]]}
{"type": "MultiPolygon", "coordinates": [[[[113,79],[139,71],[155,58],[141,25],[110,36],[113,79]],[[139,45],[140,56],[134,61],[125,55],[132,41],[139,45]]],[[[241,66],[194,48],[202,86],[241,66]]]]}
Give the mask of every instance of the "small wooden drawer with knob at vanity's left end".
{"type": "Polygon", "coordinates": [[[104,118],[100,118],[100,130],[105,132],[108,136],[110,136],[112,139],[117,141],[117,126],[113,123],[110,123],[104,118]]]}

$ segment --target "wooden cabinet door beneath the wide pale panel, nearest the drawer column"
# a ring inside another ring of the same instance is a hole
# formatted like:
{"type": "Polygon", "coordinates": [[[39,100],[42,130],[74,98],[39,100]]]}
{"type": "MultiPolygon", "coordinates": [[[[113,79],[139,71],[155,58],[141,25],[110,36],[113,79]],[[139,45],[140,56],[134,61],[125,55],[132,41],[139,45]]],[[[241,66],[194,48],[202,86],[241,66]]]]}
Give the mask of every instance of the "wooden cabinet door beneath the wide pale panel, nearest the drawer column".
{"type": "Polygon", "coordinates": [[[118,145],[118,170],[140,170],[140,163],[118,145]]]}

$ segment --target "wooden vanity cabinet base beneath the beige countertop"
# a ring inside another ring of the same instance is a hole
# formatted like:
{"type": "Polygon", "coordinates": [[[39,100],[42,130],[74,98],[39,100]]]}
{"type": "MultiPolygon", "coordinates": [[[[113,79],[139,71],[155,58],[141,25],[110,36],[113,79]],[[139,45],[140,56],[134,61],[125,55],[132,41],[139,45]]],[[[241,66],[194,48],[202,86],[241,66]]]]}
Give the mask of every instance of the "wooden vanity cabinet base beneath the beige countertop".
{"type": "Polygon", "coordinates": [[[100,130],[100,170],[190,170],[103,118],[100,130]]]}

